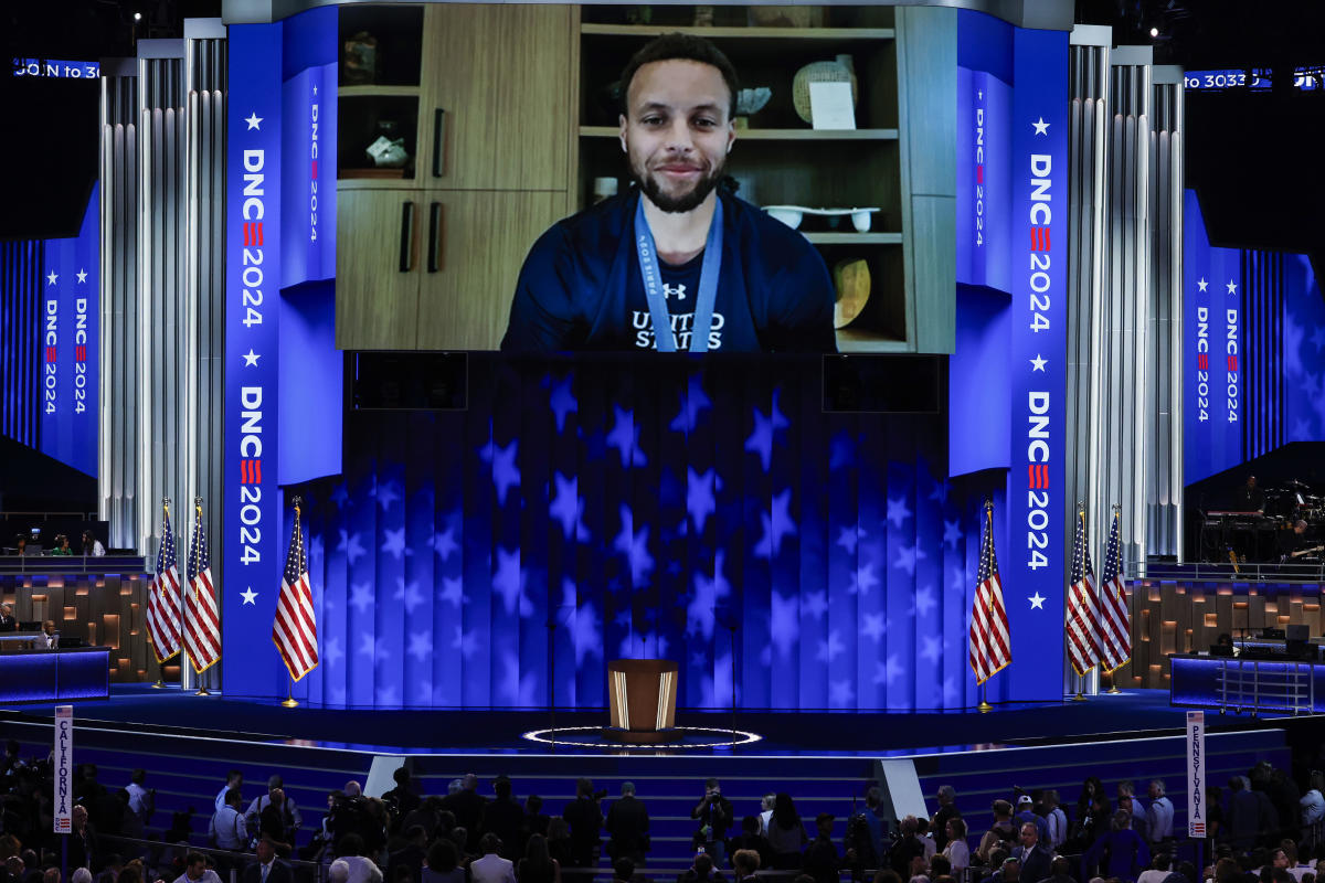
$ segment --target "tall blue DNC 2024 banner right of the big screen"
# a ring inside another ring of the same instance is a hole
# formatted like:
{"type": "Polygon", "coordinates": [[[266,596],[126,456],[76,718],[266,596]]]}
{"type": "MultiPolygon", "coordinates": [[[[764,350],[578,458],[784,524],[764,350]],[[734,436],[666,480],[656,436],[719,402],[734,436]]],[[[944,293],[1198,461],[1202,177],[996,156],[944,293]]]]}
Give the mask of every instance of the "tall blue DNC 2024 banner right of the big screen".
{"type": "Polygon", "coordinates": [[[1011,469],[999,557],[1014,700],[1063,679],[1068,267],[1068,34],[1014,33],[1011,114],[1011,469]]]}

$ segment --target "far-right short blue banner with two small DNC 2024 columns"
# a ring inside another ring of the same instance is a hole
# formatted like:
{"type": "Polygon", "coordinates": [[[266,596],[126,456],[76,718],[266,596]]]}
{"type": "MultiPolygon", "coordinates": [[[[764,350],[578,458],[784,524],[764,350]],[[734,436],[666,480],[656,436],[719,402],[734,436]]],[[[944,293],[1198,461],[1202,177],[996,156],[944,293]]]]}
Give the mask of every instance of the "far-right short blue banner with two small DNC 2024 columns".
{"type": "Polygon", "coordinates": [[[1195,191],[1183,195],[1183,477],[1243,462],[1242,254],[1210,245],[1195,191]]]}

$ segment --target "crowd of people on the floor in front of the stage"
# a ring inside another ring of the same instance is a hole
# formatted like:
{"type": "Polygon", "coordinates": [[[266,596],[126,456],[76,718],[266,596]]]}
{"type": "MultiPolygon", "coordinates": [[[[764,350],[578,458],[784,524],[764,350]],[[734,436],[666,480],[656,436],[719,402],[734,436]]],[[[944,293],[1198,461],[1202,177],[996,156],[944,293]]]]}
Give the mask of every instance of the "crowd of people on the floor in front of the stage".
{"type": "MultiPolygon", "coordinates": [[[[280,774],[245,800],[244,776],[231,770],[209,808],[211,849],[197,850],[188,846],[192,808],[147,839],[156,808],[146,770],[106,788],[85,764],[61,862],[49,833],[49,761],[24,761],[9,743],[0,761],[0,883],[220,883],[232,872],[241,883],[562,883],[575,875],[588,883],[606,876],[604,860],[617,883],[657,879],[649,813],[635,785],[608,798],[580,778],[575,790],[553,814],[537,794],[517,798],[506,777],[490,782],[490,796],[474,774],[453,780],[445,796],[421,796],[400,768],[380,797],[346,782],[327,794],[321,821],[306,825],[280,774]]],[[[710,778],[690,809],[693,862],[677,883],[754,875],[787,883],[844,875],[872,883],[1316,883],[1313,862],[1325,871],[1322,792],[1321,773],[1302,793],[1269,764],[1232,777],[1227,789],[1212,786],[1196,853],[1174,831],[1161,780],[1142,797],[1130,781],[1110,792],[1089,777],[1075,802],[1052,789],[1015,789],[973,819],[962,817],[951,786],[938,789],[928,817],[901,819],[872,786],[863,806],[844,813],[844,835],[835,839],[833,814],[803,819],[786,793],[765,794],[738,821],[710,778]],[[1198,855],[1208,859],[1199,876],[1198,855]]]]}

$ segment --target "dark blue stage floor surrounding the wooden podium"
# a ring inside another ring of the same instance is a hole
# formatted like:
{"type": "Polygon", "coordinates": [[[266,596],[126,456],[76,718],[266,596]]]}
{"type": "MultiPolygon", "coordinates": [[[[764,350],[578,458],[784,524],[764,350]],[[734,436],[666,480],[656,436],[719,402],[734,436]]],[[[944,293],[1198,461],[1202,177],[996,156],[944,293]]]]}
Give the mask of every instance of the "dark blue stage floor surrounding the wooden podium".
{"type": "MultiPolygon", "coordinates": [[[[3,707],[0,719],[50,720],[54,706],[3,707]]],[[[109,700],[74,706],[77,725],[151,729],[246,743],[305,744],[371,753],[546,753],[523,733],[551,725],[547,711],[379,711],[284,708],[277,702],[195,696],[146,684],[111,688],[109,700]]],[[[1207,727],[1248,729],[1281,725],[1284,716],[1207,712],[1207,727]]],[[[1306,723],[1298,719],[1301,723],[1306,723]]],[[[1325,721],[1325,718],[1317,719],[1325,721]]],[[[606,712],[558,711],[556,727],[599,727],[606,712]]],[[[949,712],[731,712],[678,711],[677,725],[753,732],[738,747],[649,747],[649,753],[738,753],[741,756],[881,757],[1035,747],[1072,741],[1173,735],[1186,727],[1186,710],[1169,704],[1166,690],[1132,690],[1086,702],[1026,703],[988,714],[949,712]]],[[[621,747],[558,745],[558,752],[624,753],[621,747]]],[[[639,751],[639,749],[633,749],[639,751]]]]}

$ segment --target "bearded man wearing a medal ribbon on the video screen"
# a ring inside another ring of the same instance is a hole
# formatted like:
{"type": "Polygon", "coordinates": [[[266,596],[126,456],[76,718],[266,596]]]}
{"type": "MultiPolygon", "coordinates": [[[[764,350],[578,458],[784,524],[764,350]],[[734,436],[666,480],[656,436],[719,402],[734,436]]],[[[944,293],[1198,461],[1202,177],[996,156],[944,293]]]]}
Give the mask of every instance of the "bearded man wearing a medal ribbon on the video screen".
{"type": "Polygon", "coordinates": [[[832,352],[833,289],[800,233],[719,188],[737,78],[702,37],[621,73],[635,187],[555,224],[521,269],[502,349],[832,352]]]}

